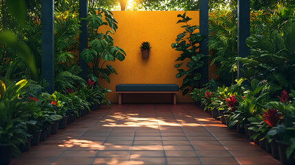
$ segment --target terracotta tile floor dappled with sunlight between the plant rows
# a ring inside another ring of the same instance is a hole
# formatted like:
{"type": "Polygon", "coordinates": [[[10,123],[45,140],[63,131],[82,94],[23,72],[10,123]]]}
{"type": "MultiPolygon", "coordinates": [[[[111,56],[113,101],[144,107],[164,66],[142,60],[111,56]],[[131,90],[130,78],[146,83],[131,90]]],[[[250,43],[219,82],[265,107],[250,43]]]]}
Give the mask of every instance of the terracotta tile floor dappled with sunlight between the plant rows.
{"type": "Polygon", "coordinates": [[[11,164],[280,164],[193,104],[113,104],[11,164]]]}

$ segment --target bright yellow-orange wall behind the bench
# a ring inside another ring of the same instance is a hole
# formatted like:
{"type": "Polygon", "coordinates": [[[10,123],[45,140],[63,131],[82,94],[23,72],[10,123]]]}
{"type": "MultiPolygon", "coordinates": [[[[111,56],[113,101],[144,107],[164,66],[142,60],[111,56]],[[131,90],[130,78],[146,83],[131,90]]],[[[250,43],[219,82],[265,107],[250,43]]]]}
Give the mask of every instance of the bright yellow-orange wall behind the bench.
{"type": "MultiPolygon", "coordinates": [[[[111,83],[100,80],[100,85],[111,89],[113,92],[107,95],[111,102],[118,102],[118,94],[115,93],[118,84],[178,84],[182,85],[182,78],[176,78],[177,64],[175,59],[179,56],[171,48],[175,42],[177,34],[183,32],[180,27],[183,24],[176,24],[179,18],[177,14],[183,14],[179,11],[114,11],[113,17],[118,21],[118,30],[113,35],[114,45],[122,47],[127,53],[127,58],[123,62],[116,61],[109,64],[115,67],[118,75],[113,74],[111,83]],[[143,41],[151,43],[151,52],[149,59],[142,59],[140,44],[143,41]]],[[[199,25],[199,12],[188,11],[186,15],[193,20],[192,25],[199,25]]],[[[102,29],[102,32],[105,30],[102,29]]],[[[133,102],[149,102],[149,98],[154,98],[155,102],[166,102],[163,99],[171,99],[169,96],[147,95],[146,94],[127,94],[125,100],[133,102]],[[145,98],[144,98],[145,97],[145,98]],[[158,97],[158,98],[157,98],[158,97]],[[138,99],[136,99],[138,98],[138,99]]],[[[123,100],[124,101],[124,100],[123,100]]],[[[128,101],[127,101],[128,102],[128,101]]],[[[177,102],[193,102],[190,96],[177,94],[177,102]]]]}

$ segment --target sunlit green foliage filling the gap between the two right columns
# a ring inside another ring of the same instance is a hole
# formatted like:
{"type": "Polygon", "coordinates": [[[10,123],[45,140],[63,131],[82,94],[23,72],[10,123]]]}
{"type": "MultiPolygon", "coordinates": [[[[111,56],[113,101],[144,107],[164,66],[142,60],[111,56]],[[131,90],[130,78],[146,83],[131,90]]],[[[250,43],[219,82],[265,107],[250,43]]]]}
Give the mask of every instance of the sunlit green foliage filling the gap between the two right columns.
{"type": "Polygon", "coordinates": [[[213,12],[210,17],[208,41],[212,50],[211,65],[217,65],[221,84],[230,86],[237,78],[237,15],[234,12],[213,12]]]}

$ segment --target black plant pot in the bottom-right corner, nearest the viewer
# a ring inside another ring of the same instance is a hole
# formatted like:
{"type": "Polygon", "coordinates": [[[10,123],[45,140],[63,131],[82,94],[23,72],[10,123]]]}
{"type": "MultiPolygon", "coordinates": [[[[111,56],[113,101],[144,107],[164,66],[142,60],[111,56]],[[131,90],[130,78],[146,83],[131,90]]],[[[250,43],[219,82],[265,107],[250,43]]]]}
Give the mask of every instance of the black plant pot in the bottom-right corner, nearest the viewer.
{"type": "Polygon", "coordinates": [[[294,165],[295,164],[294,151],[290,155],[289,159],[287,159],[286,150],[287,150],[288,146],[289,145],[287,145],[285,143],[278,142],[278,155],[280,156],[281,164],[283,164],[283,165],[294,165]]]}

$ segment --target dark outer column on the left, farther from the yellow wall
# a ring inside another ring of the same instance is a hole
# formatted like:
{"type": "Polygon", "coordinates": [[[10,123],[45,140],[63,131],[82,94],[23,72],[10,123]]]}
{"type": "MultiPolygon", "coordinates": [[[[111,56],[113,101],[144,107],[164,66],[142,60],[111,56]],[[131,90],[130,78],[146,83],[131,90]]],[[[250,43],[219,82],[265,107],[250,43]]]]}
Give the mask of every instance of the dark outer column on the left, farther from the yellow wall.
{"type": "Polygon", "coordinates": [[[54,0],[41,0],[41,77],[50,85],[49,94],[54,92],[54,0]]]}

